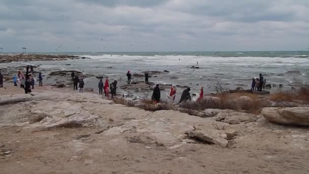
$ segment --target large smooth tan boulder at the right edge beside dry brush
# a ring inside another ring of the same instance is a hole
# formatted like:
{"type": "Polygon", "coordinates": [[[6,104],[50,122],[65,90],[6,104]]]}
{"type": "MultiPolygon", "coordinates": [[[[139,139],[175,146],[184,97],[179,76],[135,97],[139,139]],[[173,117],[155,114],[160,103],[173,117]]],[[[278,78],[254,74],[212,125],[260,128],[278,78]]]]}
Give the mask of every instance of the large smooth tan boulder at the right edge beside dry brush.
{"type": "Polygon", "coordinates": [[[261,114],[269,122],[309,126],[309,107],[265,107],[261,114]]]}

